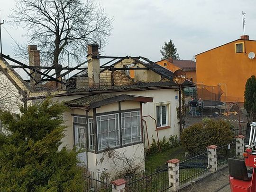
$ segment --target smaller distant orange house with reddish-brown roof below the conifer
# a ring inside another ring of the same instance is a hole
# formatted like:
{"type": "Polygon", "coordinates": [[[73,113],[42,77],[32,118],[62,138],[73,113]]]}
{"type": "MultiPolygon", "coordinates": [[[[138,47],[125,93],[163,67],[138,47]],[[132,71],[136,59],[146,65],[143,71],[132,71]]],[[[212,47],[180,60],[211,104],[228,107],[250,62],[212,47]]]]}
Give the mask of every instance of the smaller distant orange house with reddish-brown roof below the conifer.
{"type": "Polygon", "coordinates": [[[196,83],[196,63],[192,60],[176,60],[169,58],[168,60],[163,59],[155,62],[160,66],[163,66],[171,71],[182,69],[187,75],[187,79],[196,83]]]}

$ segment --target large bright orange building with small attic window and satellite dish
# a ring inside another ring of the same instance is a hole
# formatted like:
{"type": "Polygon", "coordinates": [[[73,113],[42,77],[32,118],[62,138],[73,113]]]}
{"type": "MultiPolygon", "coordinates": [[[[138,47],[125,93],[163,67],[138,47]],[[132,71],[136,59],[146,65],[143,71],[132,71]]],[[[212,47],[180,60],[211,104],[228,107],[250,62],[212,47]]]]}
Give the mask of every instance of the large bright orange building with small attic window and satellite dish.
{"type": "Polygon", "coordinates": [[[247,79],[256,75],[255,52],[256,41],[242,35],[238,40],[197,54],[197,82],[210,86],[222,83],[221,89],[226,89],[222,101],[244,102],[247,79]]]}

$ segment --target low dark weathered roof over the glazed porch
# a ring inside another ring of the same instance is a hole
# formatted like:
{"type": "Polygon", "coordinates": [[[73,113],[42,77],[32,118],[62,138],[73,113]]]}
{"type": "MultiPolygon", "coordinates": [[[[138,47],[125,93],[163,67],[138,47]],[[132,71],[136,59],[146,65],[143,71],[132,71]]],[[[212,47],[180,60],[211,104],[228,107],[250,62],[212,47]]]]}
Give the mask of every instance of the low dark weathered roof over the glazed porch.
{"type": "Polygon", "coordinates": [[[142,97],[136,95],[105,95],[105,94],[96,94],[78,98],[75,100],[66,101],[64,104],[68,107],[90,107],[97,108],[103,105],[123,101],[123,100],[133,100],[139,102],[153,102],[153,97],[142,97]]]}

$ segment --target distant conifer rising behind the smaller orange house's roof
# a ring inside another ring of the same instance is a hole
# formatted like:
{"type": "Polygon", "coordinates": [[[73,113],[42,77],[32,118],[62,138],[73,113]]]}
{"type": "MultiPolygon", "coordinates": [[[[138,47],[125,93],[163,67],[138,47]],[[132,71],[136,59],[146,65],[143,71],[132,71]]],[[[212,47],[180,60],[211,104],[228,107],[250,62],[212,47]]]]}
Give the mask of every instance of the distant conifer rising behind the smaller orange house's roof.
{"type": "Polygon", "coordinates": [[[172,40],[170,40],[170,42],[165,42],[165,45],[162,46],[160,53],[163,56],[162,59],[173,58],[180,60],[180,55],[177,53],[177,48],[175,48],[172,40]]]}

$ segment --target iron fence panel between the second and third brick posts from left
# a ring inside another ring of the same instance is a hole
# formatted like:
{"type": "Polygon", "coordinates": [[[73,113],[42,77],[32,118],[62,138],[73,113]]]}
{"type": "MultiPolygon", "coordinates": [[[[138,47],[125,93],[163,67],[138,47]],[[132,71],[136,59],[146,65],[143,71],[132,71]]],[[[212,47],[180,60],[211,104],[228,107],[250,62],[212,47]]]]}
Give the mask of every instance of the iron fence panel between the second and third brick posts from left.
{"type": "Polygon", "coordinates": [[[186,184],[208,172],[208,153],[209,151],[206,151],[179,164],[180,185],[186,184]]]}

